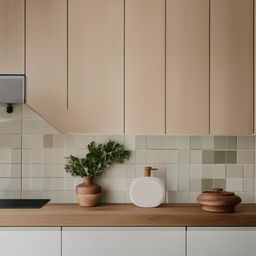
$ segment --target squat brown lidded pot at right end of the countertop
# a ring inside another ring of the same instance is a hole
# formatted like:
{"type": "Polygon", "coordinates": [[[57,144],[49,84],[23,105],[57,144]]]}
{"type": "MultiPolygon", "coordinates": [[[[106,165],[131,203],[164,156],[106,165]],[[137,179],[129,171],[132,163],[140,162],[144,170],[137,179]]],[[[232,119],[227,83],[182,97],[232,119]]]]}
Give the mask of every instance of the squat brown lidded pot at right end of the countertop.
{"type": "Polygon", "coordinates": [[[241,198],[233,192],[215,188],[205,191],[197,197],[202,209],[207,212],[234,212],[235,207],[241,202],[241,198]]]}

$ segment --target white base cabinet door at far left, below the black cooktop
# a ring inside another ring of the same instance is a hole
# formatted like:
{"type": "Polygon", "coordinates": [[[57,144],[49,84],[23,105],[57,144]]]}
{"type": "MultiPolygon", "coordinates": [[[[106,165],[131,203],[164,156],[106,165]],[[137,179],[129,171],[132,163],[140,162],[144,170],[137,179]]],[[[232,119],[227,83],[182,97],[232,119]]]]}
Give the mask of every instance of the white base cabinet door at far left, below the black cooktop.
{"type": "Polygon", "coordinates": [[[61,256],[61,229],[1,227],[0,250],[3,256],[61,256]]]}

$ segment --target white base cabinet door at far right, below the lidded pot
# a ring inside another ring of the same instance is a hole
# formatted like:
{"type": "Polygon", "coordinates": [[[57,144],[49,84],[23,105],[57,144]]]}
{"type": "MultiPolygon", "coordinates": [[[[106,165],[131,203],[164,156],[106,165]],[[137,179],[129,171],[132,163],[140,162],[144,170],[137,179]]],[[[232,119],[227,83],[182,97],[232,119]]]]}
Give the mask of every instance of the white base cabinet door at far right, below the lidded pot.
{"type": "Polygon", "coordinates": [[[253,256],[256,228],[188,228],[187,256],[253,256]]]}

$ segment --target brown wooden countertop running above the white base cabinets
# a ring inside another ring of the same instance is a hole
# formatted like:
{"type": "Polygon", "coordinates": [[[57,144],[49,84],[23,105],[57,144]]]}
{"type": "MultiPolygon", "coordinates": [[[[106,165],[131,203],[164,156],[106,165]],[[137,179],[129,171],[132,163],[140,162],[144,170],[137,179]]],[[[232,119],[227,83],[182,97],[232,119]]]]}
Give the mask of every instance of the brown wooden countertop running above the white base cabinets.
{"type": "Polygon", "coordinates": [[[47,204],[41,209],[0,209],[0,226],[256,226],[256,204],[241,204],[236,213],[207,213],[198,204],[47,204]]]}

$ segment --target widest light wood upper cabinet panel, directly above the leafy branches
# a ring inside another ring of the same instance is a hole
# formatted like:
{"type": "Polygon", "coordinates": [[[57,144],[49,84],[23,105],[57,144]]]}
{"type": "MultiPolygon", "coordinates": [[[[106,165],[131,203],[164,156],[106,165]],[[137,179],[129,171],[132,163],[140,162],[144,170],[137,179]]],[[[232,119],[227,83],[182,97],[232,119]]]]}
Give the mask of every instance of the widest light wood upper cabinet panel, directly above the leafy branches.
{"type": "Polygon", "coordinates": [[[124,0],[69,0],[67,131],[124,132],[124,0]]]}

